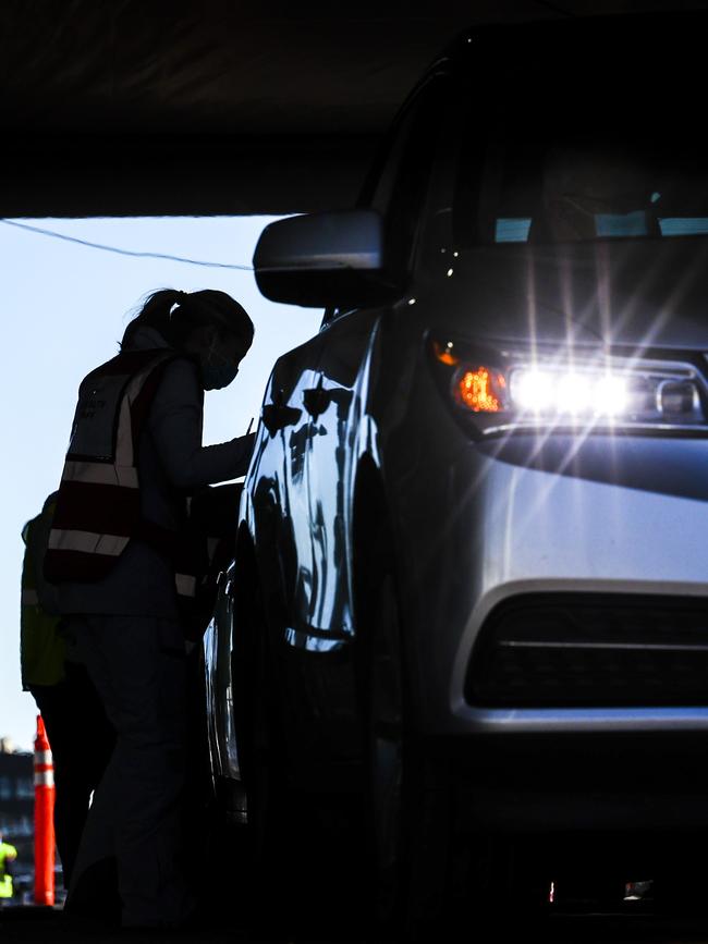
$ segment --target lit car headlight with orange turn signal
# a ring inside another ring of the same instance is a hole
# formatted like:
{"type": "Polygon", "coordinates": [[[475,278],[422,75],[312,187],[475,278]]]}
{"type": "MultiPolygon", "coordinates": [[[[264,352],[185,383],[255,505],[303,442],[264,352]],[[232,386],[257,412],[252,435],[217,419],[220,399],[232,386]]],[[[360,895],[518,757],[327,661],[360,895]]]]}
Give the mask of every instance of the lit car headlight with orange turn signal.
{"type": "Polygon", "coordinates": [[[708,429],[705,381],[693,364],[586,351],[495,351],[430,341],[455,414],[483,434],[514,429],[708,429]]]}

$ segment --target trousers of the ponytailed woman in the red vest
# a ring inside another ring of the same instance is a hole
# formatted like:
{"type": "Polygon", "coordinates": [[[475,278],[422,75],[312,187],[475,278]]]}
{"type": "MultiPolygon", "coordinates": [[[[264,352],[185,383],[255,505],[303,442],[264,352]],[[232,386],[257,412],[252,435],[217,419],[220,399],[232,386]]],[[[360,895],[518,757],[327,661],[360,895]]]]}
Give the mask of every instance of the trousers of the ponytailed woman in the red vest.
{"type": "Polygon", "coordinates": [[[179,925],[194,907],[182,835],[186,663],[181,626],[147,616],[80,615],[71,617],[69,629],[117,735],[72,886],[93,865],[114,856],[123,927],[179,925]]]}

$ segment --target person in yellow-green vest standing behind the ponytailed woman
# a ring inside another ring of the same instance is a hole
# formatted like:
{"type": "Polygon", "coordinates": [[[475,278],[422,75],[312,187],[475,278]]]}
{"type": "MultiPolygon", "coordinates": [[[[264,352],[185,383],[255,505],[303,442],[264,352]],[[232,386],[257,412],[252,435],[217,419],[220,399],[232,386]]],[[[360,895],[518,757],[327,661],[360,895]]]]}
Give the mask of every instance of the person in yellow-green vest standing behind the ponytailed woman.
{"type": "Polygon", "coordinates": [[[54,832],[63,883],[71,882],[93,792],[115,734],[86,669],[68,652],[57,588],[44,576],[44,556],[57,504],[52,492],[22,530],[20,666],[22,687],[44,719],[54,765],[54,832]]]}

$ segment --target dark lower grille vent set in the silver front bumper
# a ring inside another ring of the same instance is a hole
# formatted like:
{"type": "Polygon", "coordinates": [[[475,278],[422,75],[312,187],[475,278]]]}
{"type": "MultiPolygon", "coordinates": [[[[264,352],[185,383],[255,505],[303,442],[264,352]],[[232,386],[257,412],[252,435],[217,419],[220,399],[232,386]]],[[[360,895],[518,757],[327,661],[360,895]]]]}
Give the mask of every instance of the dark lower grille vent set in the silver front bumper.
{"type": "Polygon", "coordinates": [[[483,626],[465,694],[497,707],[708,706],[708,601],[516,597],[483,626]]]}

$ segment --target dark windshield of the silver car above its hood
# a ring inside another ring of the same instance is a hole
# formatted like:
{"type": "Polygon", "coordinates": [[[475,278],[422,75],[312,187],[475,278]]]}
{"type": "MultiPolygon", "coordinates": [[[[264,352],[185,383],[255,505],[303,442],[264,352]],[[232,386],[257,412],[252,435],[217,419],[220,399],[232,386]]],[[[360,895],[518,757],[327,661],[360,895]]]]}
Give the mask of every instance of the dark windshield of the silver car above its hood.
{"type": "Polygon", "coordinates": [[[683,94],[689,77],[682,93],[666,76],[570,76],[536,71],[475,115],[457,207],[472,241],[708,235],[708,147],[683,94]]]}

